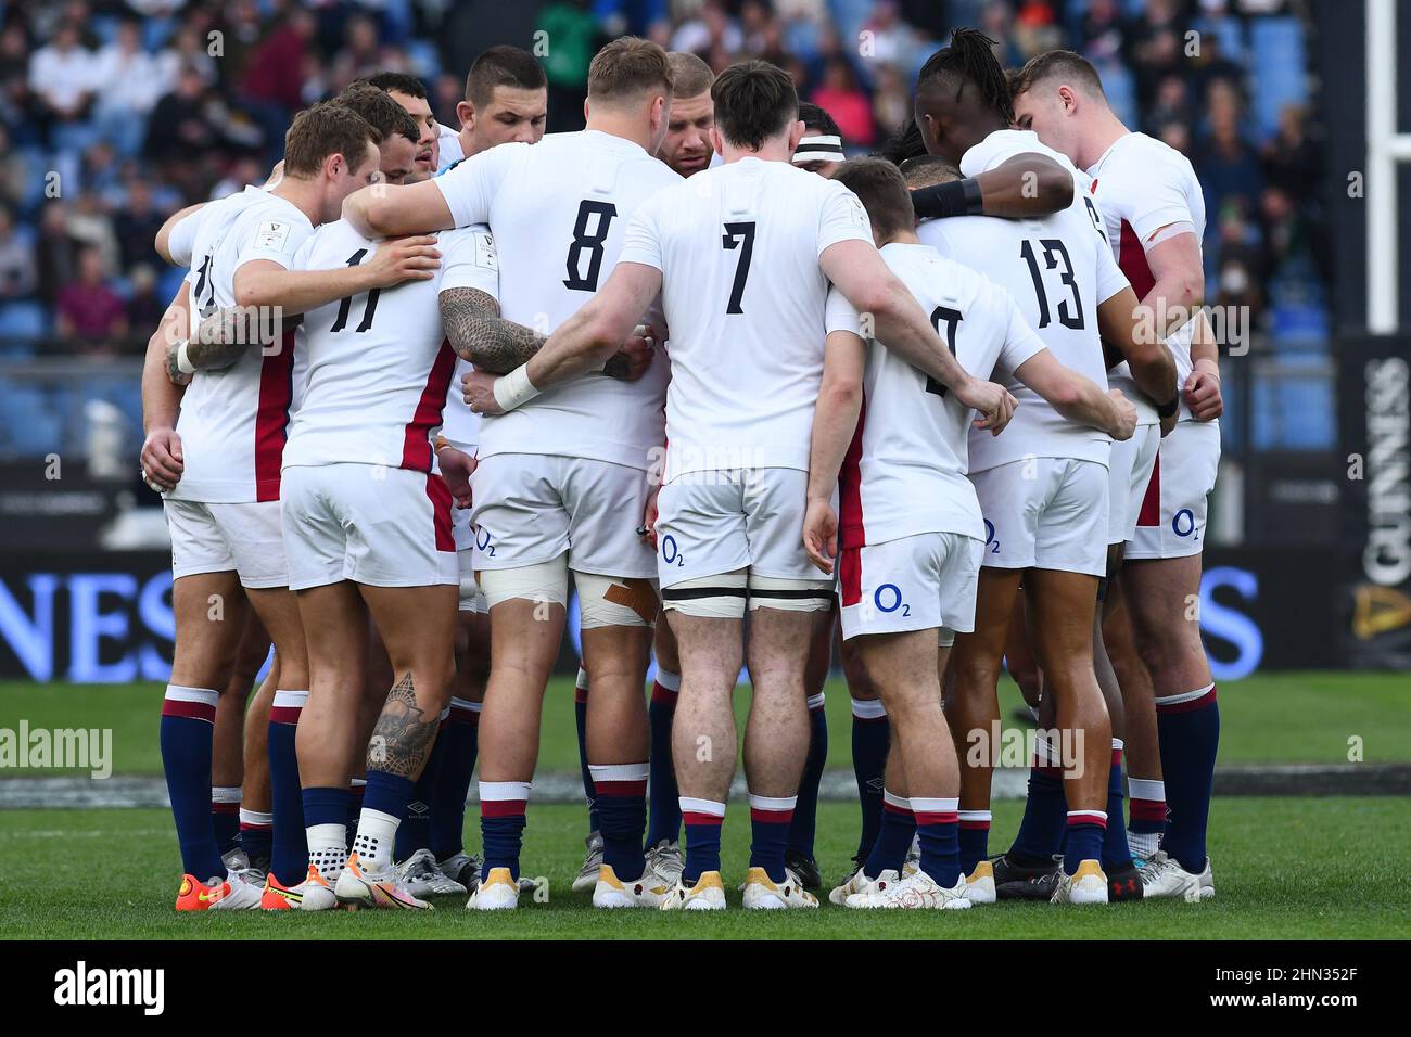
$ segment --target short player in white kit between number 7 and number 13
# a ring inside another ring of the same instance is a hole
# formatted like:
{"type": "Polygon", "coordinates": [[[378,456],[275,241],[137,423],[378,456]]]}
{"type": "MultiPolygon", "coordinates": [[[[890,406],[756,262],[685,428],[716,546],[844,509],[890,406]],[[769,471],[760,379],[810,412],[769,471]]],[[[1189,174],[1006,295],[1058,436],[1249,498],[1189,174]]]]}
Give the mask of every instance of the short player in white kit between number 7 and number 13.
{"type": "MultiPolygon", "coordinates": [[[[920,244],[895,165],[852,159],[832,176],[862,199],[882,258],[930,312],[961,367],[1013,372],[1072,420],[1130,436],[1136,413],[1120,394],[1060,365],[1007,291],[920,244]]],[[[838,559],[844,638],[882,694],[896,738],[886,838],[869,848],[864,875],[830,899],[964,909],[976,887],[959,866],[959,770],[940,674],[957,632],[974,629],[983,547],[983,519],[965,478],[971,411],[882,343],[866,346],[859,332],[856,310],[830,293],[803,540],[823,571],[832,573],[838,559]],[[841,528],[831,504],[840,468],[841,528]],[[903,879],[913,832],[921,855],[903,879]]]]}

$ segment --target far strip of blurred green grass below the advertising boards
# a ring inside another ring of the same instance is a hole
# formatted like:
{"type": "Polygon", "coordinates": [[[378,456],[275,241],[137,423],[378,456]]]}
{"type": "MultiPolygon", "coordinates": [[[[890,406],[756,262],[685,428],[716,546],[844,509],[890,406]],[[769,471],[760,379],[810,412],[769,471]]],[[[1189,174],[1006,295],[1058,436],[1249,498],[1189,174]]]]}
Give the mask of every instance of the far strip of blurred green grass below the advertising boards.
{"type": "MultiPolygon", "coordinates": [[[[848,690],[828,683],[828,766],[851,769],[848,690]]],[[[21,718],[31,728],[110,728],[113,773],[161,775],[157,721],[161,684],[79,686],[0,683],[0,728],[21,718]]],[[[737,697],[744,717],[748,690],[737,697]]],[[[1020,704],[1006,677],[1000,712],[1006,727],[1020,704]]],[[[1221,684],[1221,763],[1345,763],[1349,739],[1362,739],[1366,762],[1411,760],[1411,681],[1394,673],[1271,673],[1221,684]]],[[[579,766],[573,680],[555,679],[543,710],[543,770],[579,766]]],[[[4,776],[55,775],[6,769],[4,776]]]]}

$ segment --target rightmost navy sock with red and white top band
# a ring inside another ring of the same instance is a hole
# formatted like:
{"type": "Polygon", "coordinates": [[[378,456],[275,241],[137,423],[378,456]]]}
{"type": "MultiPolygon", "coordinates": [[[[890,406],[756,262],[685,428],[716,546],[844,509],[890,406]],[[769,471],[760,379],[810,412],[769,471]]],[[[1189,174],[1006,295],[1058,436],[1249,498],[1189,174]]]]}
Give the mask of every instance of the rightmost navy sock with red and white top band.
{"type": "Polygon", "coordinates": [[[1215,684],[1185,696],[1156,700],[1161,742],[1161,776],[1170,817],[1161,849],[1185,871],[1205,871],[1205,828],[1215,787],[1215,755],[1221,746],[1221,708],[1215,684]]]}

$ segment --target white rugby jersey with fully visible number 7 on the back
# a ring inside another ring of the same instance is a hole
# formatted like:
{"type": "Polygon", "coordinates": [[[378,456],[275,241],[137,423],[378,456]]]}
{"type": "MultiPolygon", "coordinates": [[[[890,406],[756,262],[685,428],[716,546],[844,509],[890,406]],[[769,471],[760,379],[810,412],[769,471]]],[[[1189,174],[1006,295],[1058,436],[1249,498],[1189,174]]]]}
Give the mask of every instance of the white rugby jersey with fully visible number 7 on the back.
{"type": "Polygon", "coordinates": [[[789,162],[742,158],[642,206],[618,262],[662,271],[667,480],[809,470],[828,299],[818,257],[849,240],[872,243],[856,195],[789,162]]]}

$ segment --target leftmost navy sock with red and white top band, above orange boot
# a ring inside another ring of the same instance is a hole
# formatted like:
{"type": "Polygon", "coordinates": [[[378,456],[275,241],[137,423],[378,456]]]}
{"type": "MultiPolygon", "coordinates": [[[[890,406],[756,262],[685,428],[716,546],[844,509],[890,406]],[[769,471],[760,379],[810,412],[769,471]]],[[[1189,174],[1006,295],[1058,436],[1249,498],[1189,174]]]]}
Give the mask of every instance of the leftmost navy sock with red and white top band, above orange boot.
{"type": "Polygon", "coordinates": [[[181,866],[198,882],[226,875],[210,824],[210,739],[216,729],[216,693],[166,686],[159,742],[166,794],[172,801],[181,866]]]}

